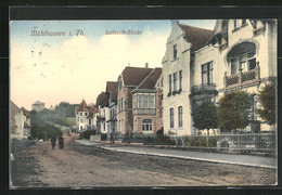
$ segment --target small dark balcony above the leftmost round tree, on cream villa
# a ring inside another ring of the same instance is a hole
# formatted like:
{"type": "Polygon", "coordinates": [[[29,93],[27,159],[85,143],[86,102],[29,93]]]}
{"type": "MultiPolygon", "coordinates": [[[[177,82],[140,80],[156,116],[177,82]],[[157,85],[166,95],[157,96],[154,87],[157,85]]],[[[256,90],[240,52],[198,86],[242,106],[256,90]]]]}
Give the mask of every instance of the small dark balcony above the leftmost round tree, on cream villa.
{"type": "Polygon", "coordinates": [[[190,96],[217,95],[217,94],[218,91],[216,90],[215,83],[201,83],[192,87],[190,96]]]}

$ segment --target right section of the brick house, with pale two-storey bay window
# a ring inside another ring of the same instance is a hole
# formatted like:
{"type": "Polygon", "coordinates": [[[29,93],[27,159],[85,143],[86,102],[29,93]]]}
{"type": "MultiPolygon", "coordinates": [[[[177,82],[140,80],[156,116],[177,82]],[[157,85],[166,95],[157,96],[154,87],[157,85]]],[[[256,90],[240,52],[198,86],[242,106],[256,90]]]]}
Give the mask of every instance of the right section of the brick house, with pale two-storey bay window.
{"type": "Polygon", "coordinates": [[[162,130],[162,68],[154,68],[132,90],[133,133],[155,134],[156,131],[162,130]]]}

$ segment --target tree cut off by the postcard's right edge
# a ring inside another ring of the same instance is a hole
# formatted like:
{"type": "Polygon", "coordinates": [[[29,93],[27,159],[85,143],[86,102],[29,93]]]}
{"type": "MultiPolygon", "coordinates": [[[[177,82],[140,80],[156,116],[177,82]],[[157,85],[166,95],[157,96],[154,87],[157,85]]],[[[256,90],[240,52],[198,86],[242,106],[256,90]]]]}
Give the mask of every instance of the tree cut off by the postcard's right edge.
{"type": "Polygon", "coordinates": [[[266,84],[258,91],[258,101],[262,108],[257,109],[260,118],[272,126],[275,121],[275,88],[273,84],[266,84]]]}

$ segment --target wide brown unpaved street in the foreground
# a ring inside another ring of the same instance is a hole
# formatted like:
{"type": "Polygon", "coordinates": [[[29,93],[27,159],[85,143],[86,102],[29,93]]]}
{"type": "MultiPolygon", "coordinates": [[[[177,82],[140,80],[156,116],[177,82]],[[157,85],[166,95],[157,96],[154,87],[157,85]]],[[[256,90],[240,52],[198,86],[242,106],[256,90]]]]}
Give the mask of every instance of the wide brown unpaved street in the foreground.
{"type": "Polygon", "coordinates": [[[65,148],[41,142],[15,154],[14,186],[195,186],[268,185],[275,170],[117,153],[65,136],[65,148]],[[18,160],[21,158],[21,160],[18,160]]]}

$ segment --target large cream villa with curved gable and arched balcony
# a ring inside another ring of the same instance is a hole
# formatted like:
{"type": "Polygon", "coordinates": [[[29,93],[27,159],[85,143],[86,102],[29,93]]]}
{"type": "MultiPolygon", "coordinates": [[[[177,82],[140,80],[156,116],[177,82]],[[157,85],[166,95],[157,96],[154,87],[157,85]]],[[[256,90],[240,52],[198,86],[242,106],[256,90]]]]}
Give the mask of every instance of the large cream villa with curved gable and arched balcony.
{"type": "MultiPolygon", "coordinates": [[[[218,20],[214,31],[171,21],[163,58],[164,131],[193,135],[191,106],[218,99],[233,90],[254,96],[277,77],[277,24],[272,20],[218,20]]],[[[256,122],[257,123],[257,122],[256,122]]],[[[249,126],[267,129],[264,122],[249,126]]]]}

